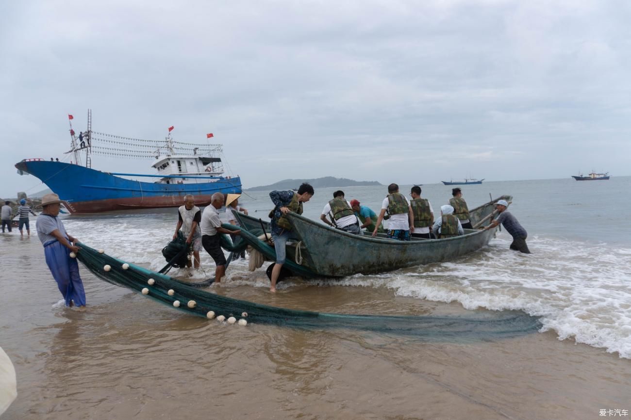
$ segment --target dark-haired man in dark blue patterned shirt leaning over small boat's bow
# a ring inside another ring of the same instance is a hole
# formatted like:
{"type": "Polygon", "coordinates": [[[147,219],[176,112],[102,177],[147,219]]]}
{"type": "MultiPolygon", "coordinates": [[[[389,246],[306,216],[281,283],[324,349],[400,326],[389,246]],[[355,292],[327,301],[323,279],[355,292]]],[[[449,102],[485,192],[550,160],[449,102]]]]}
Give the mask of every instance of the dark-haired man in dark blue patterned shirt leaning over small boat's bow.
{"type": "Polygon", "coordinates": [[[281,268],[285,264],[286,251],[285,245],[292,238],[292,224],[286,218],[285,214],[290,211],[302,214],[302,203],[307,202],[314,196],[314,187],[306,182],[300,185],[298,192],[293,191],[272,191],[269,193],[274,203],[274,209],[271,212],[271,233],[274,242],[274,250],[276,250],[276,264],[272,269],[271,284],[269,291],[276,291],[276,281],[280,276],[281,268]]]}

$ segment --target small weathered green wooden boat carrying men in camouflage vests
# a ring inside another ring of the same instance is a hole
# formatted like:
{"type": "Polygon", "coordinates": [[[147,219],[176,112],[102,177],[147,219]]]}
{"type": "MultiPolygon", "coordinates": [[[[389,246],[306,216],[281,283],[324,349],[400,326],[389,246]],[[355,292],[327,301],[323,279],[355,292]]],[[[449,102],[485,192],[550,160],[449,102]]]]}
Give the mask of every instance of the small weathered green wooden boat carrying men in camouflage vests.
{"type": "MultiPolygon", "coordinates": [[[[492,220],[495,202],[498,200],[511,201],[512,197],[504,195],[469,211],[472,225],[487,226],[492,220]]],[[[465,235],[454,238],[413,238],[409,242],[403,242],[387,239],[383,233],[376,238],[370,235],[353,235],[295,213],[288,216],[297,236],[295,241],[287,243],[288,261],[316,276],[325,277],[374,274],[452,260],[485,247],[495,235],[495,228],[465,229],[465,235]]],[[[253,241],[252,238],[261,235],[264,230],[269,233],[269,224],[243,213],[235,213],[235,217],[239,219],[241,229],[251,233],[242,235],[244,241],[255,248],[261,248],[261,243],[264,242],[258,239],[253,241]]],[[[227,227],[235,228],[229,225],[227,227]]],[[[267,247],[269,254],[271,247],[267,247]]],[[[291,267],[288,268],[291,270],[291,267]]]]}

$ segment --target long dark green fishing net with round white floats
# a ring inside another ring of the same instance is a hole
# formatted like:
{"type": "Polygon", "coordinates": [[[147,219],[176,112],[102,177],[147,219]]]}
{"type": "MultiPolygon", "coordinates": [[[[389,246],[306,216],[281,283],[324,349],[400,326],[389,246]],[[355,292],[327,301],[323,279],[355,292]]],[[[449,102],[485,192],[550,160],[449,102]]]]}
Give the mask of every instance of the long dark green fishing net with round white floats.
{"type": "MultiPolygon", "coordinates": [[[[129,288],[136,293],[146,289],[146,297],[163,305],[198,317],[207,317],[209,311],[226,318],[245,318],[249,324],[274,324],[301,329],[355,329],[385,334],[404,335],[431,341],[433,339],[488,340],[514,337],[538,330],[538,318],[525,313],[497,313],[484,316],[472,313],[468,317],[347,315],[318,313],[304,310],[276,308],[227,296],[209,293],[191,284],[153,272],[139,265],[100,254],[80,243],[77,258],[95,276],[108,283],[129,288]],[[109,271],[105,266],[109,265],[109,271]],[[153,279],[153,280],[150,280],[153,279]],[[169,295],[172,291],[172,295],[169,295]]],[[[143,293],[144,295],[144,293],[143,293]]]]}

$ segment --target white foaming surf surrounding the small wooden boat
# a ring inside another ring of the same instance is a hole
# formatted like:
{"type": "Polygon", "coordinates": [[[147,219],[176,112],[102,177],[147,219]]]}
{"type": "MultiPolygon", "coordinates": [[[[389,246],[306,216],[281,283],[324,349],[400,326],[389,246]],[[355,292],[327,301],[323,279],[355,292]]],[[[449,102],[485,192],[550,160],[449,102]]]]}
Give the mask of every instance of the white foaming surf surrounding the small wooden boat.
{"type": "MultiPolygon", "coordinates": [[[[114,223],[111,218],[66,219],[65,223],[68,231],[91,247],[157,271],[165,265],[160,250],[170,240],[168,232],[175,228],[175,221],[170,216],[153,217],[151,223],[136,217],[115,218],[114,223]]],[[[351,276],[335,284],[386,287],[398,296],[457,301],[470,310],[523,310],[540,316],[541,330],[554,330],[559,339],[574,339],[631,358],[631,249],[533,235],[528,239],[533,254],[524,255],[509,250],[509,243],[510,236],[504,232],[489,247],[456,261],[351,276]]],[[[202,255],[205,273],[194,271],[192,279],[214,275],[215,264],[205,252],[202,255]]],[[[247,260],[233,261],[221,287],[267,288],[263,269],[248,272],[247,260]]],[[[183,272],[172,269],[169,274],[183,272]]],[[[296,284],[282,282],[278,288],[296,284]]]]}

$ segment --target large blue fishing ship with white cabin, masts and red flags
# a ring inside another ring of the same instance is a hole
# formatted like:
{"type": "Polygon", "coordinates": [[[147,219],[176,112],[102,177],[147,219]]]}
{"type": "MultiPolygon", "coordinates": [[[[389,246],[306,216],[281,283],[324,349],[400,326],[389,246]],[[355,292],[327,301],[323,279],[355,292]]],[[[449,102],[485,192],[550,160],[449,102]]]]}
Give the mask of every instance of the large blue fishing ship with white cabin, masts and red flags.
{"type": "MultiPolygon", "coordinates": [[[[69,115],[72,120],[72,115],[69,115]]],[[[240,194],[241,180],[222,176],[220,144],[182,143],[171,138],[164,141],[132,139],[88,129],[80,136],[70,128],[73,156],[68,162],[42,158],[25,159],[16,163],[18,172],[29,173],[42,180],[72,214],[100,213],[112,210],[178,207],[184,195],[192,194],[198,206],[207,206],[215,192],[240,194]],[[82,163],[85,153],[85,165],[82,163]],[[114,173],[91,168],[91,155],[117,158],[152,159],[155,173],[114,173]],[[130,179],[131,178],[131,179],[130,179]],[[137,178],[148,178],[140,181],[137,178]],[[155,181],[154,181],[155,180],[155,181]]],[[[207,134],[213,137],[213,134],[207,134]]]]}

